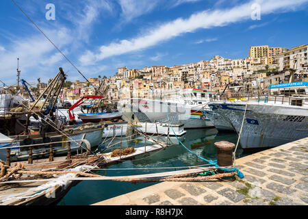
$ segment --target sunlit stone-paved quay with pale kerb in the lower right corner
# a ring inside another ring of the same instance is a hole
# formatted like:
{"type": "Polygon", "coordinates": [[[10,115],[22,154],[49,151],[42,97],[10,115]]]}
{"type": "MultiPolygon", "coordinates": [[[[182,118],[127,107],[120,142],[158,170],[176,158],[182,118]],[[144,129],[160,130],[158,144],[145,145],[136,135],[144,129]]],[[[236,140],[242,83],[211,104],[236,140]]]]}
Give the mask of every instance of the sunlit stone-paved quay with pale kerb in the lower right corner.
{"type": "Polygon", "coordinates": [[[163,182],[93,205],[308,205],[308,138],[236,159],[244,179],[163,182]]]}

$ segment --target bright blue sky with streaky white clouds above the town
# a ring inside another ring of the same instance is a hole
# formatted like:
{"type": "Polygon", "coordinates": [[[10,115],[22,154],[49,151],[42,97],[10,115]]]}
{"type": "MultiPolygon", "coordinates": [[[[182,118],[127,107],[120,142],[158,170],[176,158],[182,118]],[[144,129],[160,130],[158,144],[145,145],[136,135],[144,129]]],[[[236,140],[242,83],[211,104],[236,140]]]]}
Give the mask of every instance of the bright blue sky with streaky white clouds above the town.
{"type": "MultiPolygon", "coordinates": [[[[308,0],[14,1],[86,77],[308,44],[308,0]]],[[[0,80],[17,83],[18,57],[29,83],[47,82],[59,67],[69,81],[85,81],[27,16],[12,0],[0,1],[0,80]]]]}

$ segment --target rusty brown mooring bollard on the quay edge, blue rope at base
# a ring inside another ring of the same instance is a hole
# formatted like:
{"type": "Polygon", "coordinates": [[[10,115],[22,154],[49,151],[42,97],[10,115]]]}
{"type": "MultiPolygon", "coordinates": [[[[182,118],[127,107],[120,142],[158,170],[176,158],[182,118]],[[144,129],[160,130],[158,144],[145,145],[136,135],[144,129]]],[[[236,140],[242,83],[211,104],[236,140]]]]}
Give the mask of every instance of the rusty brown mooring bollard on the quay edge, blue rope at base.
{"type": "Polygon", "coordinates": [[[235,144],[227,141],[215,142],[217,149],[217,164],[220,167],[233,165],[233,149],[235,144]]]}

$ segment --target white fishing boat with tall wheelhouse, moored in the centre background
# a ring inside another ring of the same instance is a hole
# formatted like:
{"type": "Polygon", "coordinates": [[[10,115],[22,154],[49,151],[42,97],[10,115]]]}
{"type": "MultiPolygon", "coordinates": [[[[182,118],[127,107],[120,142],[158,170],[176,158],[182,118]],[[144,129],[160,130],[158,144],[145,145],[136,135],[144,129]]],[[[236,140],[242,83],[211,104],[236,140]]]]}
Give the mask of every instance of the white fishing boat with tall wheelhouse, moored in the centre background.
{"type": "MultiPolygon", "coordinates": [[[[183,89],[166,98],[131,99],[133,112],[142,112],[151,121],[164,121],[170,118],[173,123],[182,123],[185,129],[214,127],[204,109],[213,92],[199,89],[183,89]]],[[[207,110],[210,110],[207,107],[207,110]]]]}

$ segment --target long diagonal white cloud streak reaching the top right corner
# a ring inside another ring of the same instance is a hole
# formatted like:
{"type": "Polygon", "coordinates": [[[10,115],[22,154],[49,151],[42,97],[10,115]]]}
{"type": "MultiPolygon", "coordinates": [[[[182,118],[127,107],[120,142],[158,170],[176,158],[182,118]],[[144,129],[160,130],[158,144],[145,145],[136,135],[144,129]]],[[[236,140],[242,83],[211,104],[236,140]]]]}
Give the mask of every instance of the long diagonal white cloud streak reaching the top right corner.
{"type": "Polygon", "coordinates": [[[156,44],[181,36],[182,34],[194,32],[197,29],[221,27],[230,25],[231,23],[248,20],[251,18],[251,5],[256,2],[261,5],[261,14],[270,14],[282,12],[282,10],[294,10],[302,3],[307,2],[307,0],[299,0],[296,2],[287,0],[251,1],[231,9],[198,12],[192,14],[189,18],[177,18],[175,21],[163,23],[153,29],[143,31],[145,34],[137,36],[136,38],[120,40],[119,42],[103,45],[97,52],[88,51],[84,55],[81,55],[79,61],[83,64],[86,64],[83,60],[87,62],[89,62],[89,60],[97,62],[114,55],[122,55],[131,51],[139,51],[153,47],[156,44]]]}

